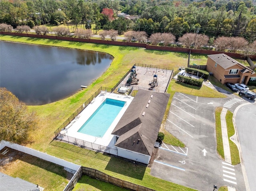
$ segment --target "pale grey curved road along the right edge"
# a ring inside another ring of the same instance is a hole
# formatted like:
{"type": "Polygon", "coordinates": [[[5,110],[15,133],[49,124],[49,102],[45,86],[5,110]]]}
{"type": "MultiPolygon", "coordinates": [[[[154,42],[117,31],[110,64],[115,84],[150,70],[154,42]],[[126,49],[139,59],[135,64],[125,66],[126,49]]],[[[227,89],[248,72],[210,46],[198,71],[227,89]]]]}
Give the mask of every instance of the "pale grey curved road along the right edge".
{"type": "Polygon", "coordinates": [[[248,104],[243,104],[238,108],[235,116],[250,191],[256,190],[256,103],[254,101],[251,100],[248,104]]]}

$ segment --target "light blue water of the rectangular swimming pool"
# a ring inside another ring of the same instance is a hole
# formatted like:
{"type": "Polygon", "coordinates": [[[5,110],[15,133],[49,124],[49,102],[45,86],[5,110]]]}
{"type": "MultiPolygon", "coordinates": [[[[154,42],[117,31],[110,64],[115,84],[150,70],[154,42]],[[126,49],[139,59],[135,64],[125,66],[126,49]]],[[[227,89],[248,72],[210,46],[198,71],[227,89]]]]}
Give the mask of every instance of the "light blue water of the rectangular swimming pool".
{"type": "Polygon", "coordinates": [[[103,137],[124,104],[124,101],[106,98],[78,132],[95,137],[103,137]]]}

